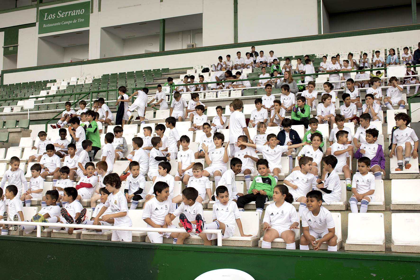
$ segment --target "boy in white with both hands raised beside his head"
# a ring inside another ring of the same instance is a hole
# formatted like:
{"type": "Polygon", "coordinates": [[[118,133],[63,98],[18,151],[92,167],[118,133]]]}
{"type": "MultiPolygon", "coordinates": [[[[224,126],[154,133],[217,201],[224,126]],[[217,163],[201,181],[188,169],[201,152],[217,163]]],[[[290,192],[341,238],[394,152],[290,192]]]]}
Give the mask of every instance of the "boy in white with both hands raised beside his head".
{"type": "Polygon", "coordinates": [[[205,144],[202,145],[202,148],[204,150],[205,161],[206,161],[206,164],[209,166],[206,169],[204,169],[203,176],[204,177],[214,176],[214,183],[216,186],[219,183],[220,176],[222,176],[223,173],[226,172],[227,170],[226,163],[229,160],[229,157],[228,157],[229,141],[228,143],[226,143],[225,148],[223,148],[224,141],[225,141],[225,135],[223,135],[223,133],[216,132],[213,135],[213,143],[215,145],[214,149],[209,150],[207,145],[205,144]]]}

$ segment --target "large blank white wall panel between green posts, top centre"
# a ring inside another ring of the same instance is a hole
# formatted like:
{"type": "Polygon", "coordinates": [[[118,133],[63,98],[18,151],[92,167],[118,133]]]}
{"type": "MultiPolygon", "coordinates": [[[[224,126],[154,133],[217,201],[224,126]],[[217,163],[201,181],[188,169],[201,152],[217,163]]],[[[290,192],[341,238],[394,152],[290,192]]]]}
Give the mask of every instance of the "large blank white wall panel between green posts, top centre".
{"type": "MultiPolygon", "coordinates": [[[[227,5],[230,6],[231,1],[223,2],[227,2],[227,5]]],[[[223,6],[224,5],[225,4],[223,4],[223,6]]],[[[220,12],[220,7],[218,8],[218,11],[220,12]]],[[[239,0],[238,42],[269,40],[318,34],[317,11],[317,1],[315,0],[239,0]],[[295,12],[297,11],[297,9],[302,13],[299,13],[299,15],[297,15],[295,12]],[[258,12],[261,12],[265,16],[258,18],[258,16],[256,16],[258,12]],[[271,20],[273,22],[278,22],[278,24],[270,24],[271,20]],[[260,31],[261,29],[265,30],[260,31]],[[270,31],[268,29],[273,30],[270,31]]],[[[232,13],[230,13],[229,10],[225,13],[225,9],[223,8],[223,14],[230,15],[232,13]]],[[[223,24],[225,24],[225,22],[223,22],[223,24]]],[[[227,25],[229,25],[229,23],[227,25]]]]}

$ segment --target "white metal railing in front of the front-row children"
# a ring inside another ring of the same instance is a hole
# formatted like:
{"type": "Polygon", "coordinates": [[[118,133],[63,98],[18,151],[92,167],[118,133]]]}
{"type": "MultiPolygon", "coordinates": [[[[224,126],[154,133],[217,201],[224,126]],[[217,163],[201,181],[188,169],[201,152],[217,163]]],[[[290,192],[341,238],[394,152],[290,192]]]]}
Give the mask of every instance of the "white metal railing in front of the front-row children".
{"type": "MultiPolygon", "coordinates": [[[[104,225],[78,225],[78,224],[62,224],[62,223],[45,223],[45,222],[17,222],[17,221],[0,221],[3,225],[32,225],[37,227],[37,237],[41,237],[41,227],[71,227],[84,228],[92,230],[126,230],[126,231],[142,231],[142,232],[176,232],[185,233],[181,228],[158,228],[158,227],[116,227],[104,225]]],[[[202,233],[217,234],[217,246],[222,246],[222,230],[203,230],[202,233]]]]}

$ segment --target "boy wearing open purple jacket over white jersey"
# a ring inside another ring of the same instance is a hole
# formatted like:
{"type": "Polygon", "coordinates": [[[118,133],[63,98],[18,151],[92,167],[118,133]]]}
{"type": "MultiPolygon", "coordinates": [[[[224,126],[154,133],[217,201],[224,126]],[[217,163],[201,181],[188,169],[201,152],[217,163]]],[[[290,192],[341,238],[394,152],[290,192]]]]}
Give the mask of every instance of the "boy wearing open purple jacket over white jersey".
{"type": "Polygon", "coordinates": [[[366,156],[370,159],[369,172],[373,172],[375,179],[381,180],[382,174],[385,175],[385,156],[383,154],[382,145],[376,142],[379,131],[377,129],[366,129],[366,142],[361,143],[360,148],[354,153],[355,158],[366,156]]]}

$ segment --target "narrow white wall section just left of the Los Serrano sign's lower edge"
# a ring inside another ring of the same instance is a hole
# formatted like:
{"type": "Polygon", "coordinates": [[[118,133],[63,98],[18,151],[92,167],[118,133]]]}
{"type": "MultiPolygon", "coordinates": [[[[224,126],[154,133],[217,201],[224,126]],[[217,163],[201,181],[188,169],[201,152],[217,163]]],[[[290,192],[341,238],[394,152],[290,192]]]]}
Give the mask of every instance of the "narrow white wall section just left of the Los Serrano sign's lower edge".
{"type": "Polygon", "coordinates": [[[18,68],[37,65],[38,27],[19,29],[18,68]]]}

